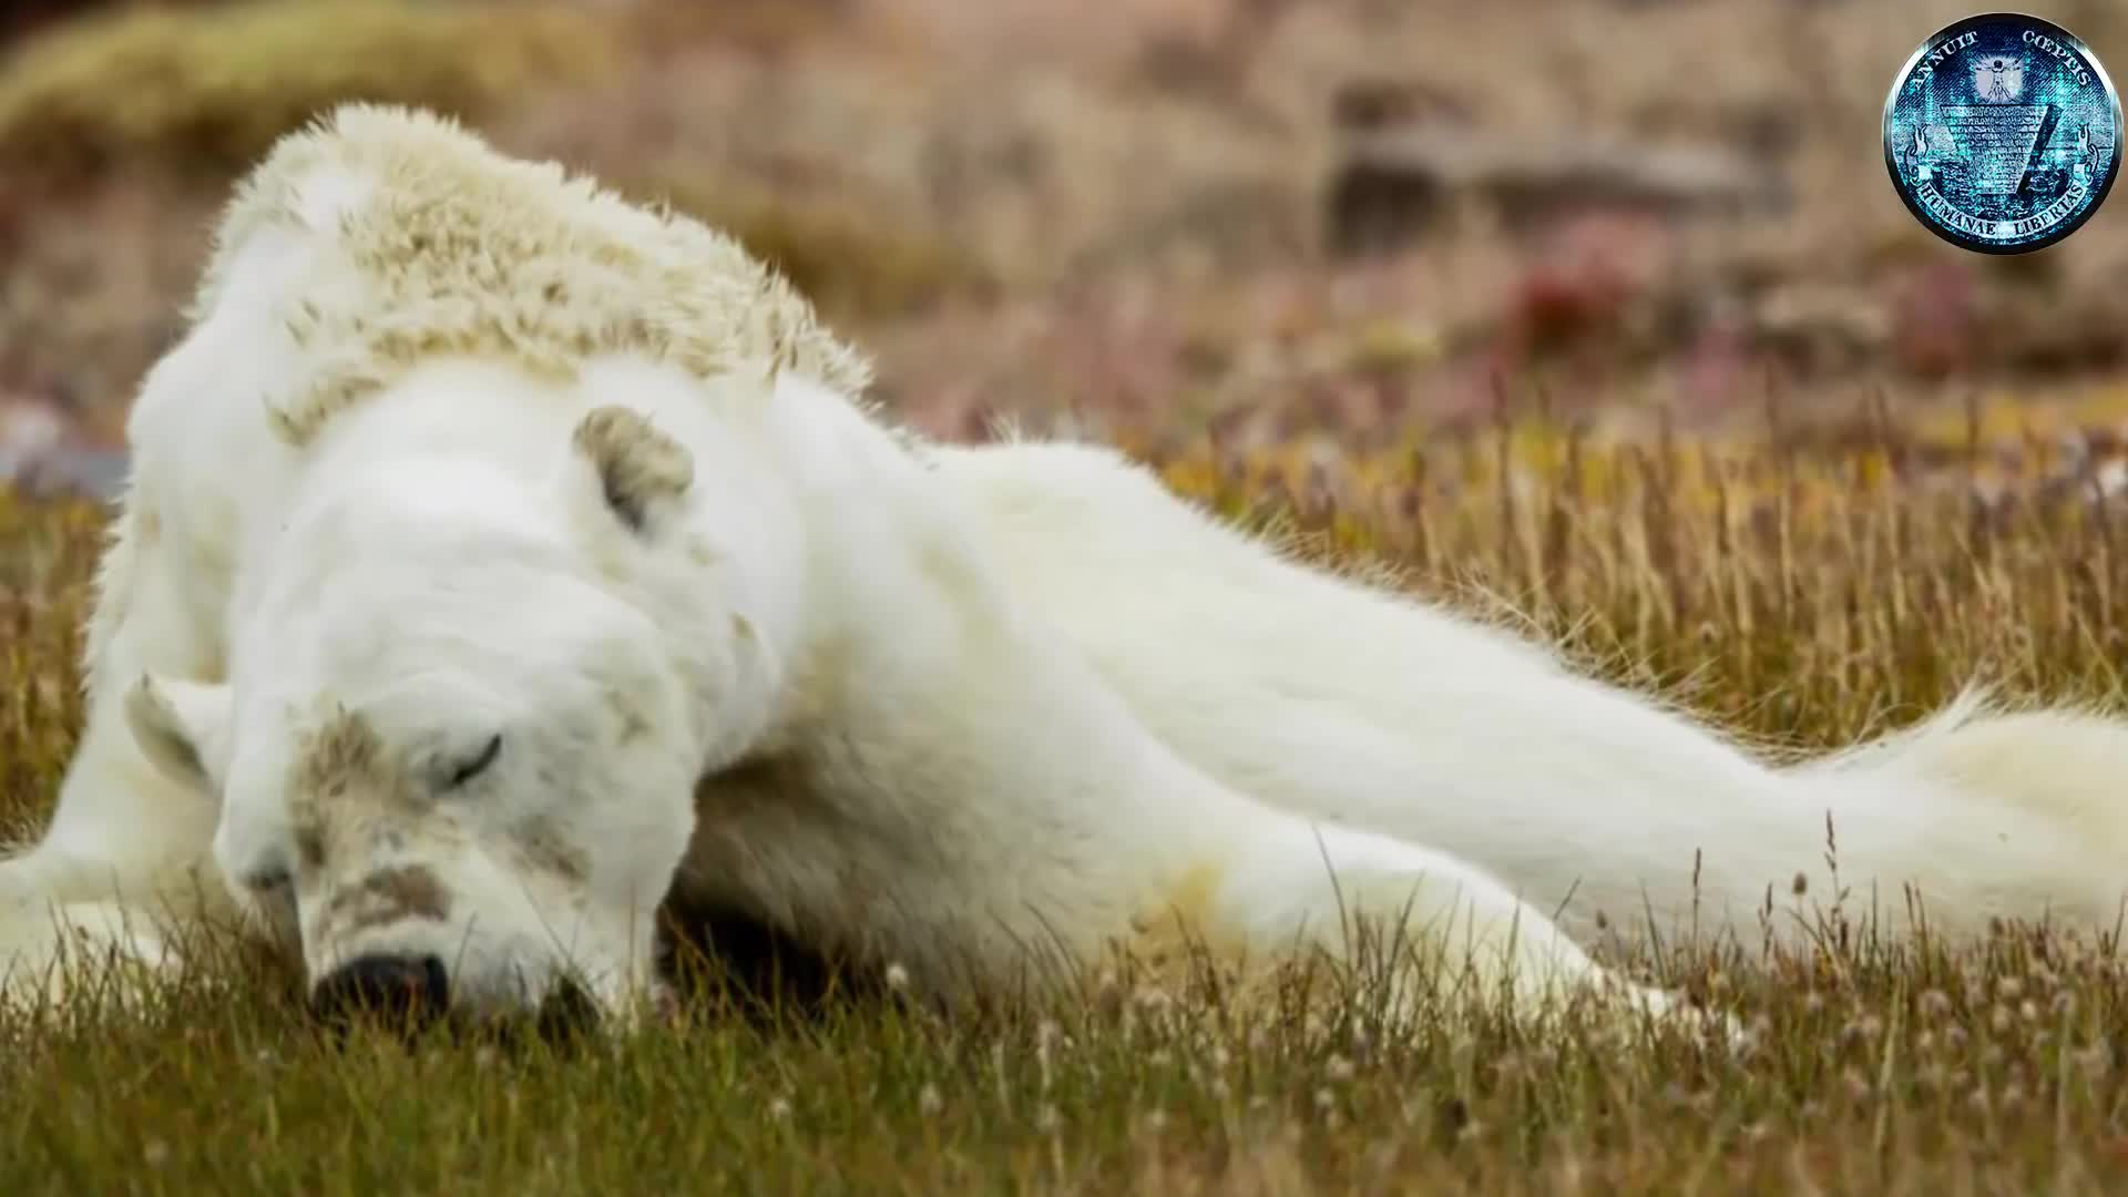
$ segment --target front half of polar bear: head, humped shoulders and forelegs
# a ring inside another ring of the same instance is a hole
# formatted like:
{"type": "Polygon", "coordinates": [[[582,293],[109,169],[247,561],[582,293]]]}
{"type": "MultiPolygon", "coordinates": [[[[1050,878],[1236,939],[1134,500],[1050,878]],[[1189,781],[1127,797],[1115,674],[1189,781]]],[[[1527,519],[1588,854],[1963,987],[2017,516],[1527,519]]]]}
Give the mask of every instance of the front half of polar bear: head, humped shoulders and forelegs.
{"type": "Polygon", "coordinates": [[[1381,918],[1515,1014],[1677,1010],[1496,878],[1185,760],[864,386],[698,224],[426,113],[285,138],[130,417],[11,978],[234,922],[328,1001],[626,1024],[683,888],[943,997],[1381,918]]]}

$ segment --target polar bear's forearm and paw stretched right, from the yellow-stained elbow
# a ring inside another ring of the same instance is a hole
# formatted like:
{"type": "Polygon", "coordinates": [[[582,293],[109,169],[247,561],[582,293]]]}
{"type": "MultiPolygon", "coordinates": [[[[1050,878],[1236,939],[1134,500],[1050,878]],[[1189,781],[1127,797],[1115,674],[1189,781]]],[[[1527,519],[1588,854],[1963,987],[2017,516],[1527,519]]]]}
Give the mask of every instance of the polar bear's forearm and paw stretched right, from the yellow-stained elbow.
{"type": "Polygon", "coordinates": [[[1445,852],[1273,811],[1236,839],[1200,890],[1207,941],[1238,941],[1249,956],[1315,948],[1347,965],[1394,952],[1396,1016],[1413,1014],[1432,982],[1449,999],[1462,982],[1487,1007],[1528,1020],[1549,1020],[1573,999],[1630,1020],[1702,1020],[1681,999],[1600,967],[1502,882],[1445,852]]]}

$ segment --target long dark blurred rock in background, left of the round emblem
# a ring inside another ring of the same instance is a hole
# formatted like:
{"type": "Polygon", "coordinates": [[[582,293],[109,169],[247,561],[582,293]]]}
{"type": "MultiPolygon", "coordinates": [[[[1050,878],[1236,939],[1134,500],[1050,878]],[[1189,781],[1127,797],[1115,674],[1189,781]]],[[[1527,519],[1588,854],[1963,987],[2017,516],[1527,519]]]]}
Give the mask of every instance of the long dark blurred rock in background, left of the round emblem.
{"type": "Polygon", "coordinates": [[[1745,215],[1785,202],[1777,170],[1724,149],[1400,124],[1347,138],[1326,219],[1334,251],[1368,253],[1415,241],[1466,204],[1517,232],[1579,213],[1745,215]]]}

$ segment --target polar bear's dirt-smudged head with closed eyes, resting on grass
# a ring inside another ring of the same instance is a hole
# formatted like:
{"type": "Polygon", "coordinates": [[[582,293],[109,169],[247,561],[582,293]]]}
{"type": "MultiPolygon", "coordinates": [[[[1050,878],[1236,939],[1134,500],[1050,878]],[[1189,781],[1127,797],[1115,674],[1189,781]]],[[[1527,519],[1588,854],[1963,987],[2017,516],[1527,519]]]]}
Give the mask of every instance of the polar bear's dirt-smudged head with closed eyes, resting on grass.
{"type": "Polygon", "coordinates": [[[221,794],[215,860],[319,997],[611,1012],[655,984],[694,786],[772,662],[687,449],[617,407],[566,428],[541,481],[398,454],[309,486],[240,584],[230,682],[126,699],[143,752],[221,794]]]}

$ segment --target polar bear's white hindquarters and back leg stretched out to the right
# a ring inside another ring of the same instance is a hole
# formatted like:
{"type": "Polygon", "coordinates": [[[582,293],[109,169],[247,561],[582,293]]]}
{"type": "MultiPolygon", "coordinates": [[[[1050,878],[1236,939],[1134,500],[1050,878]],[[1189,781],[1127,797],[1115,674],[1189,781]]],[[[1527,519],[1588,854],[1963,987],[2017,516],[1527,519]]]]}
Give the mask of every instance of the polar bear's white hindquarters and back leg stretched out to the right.
{"type": "Polygon", "coordinates": [[[1534,643],[1300,569],[1111,452],[936,456],[1015,598],[1187,760],[1309,818],[1456,852],[1581,941],[1649,918],[1668,941],[1758,944],[1762,924],[1794,941],[1836,888],[1849,920],[1898,937],[1909,886],[1949,937],[2045,916],[2090,933],[2128,897],[2115,720],[1968,699],[1777,769],[1534,643]]]}

